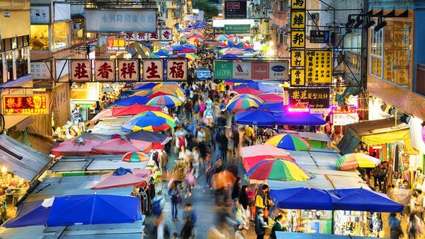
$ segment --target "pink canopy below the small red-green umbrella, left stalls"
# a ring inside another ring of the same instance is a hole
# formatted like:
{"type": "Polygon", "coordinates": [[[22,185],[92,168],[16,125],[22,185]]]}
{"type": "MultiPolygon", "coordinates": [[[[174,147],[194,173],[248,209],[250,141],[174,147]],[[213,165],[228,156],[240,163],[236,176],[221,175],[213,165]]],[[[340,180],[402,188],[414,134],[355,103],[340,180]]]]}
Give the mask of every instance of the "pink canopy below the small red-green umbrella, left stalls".
{"type": "Polygon", "coordinates": [[[116,175],[115,172],[101,175],[101,180],[91,187],[91,190],[106,190],[114,187],[147,187],[147,181],[152,174],[151,170],[132,169],[131,172],[125,173],[125,175],[116,175]]]}

